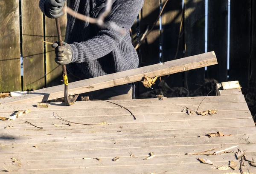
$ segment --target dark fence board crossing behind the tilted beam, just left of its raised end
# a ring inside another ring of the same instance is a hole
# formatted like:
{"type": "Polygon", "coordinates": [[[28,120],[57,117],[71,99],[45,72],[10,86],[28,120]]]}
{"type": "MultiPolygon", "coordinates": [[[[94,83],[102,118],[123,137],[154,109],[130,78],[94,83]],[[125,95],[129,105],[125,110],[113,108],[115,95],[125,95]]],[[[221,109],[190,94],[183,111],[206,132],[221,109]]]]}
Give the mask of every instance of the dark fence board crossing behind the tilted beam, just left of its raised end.
{"type": "MultiPolygon", "coordinates": [[[[185,0],[185,56],[204,53],[205,0],[185,0]]],[[[185,86],[198,88],[205,78],[204,68],[186,72],[185,86]]]]}

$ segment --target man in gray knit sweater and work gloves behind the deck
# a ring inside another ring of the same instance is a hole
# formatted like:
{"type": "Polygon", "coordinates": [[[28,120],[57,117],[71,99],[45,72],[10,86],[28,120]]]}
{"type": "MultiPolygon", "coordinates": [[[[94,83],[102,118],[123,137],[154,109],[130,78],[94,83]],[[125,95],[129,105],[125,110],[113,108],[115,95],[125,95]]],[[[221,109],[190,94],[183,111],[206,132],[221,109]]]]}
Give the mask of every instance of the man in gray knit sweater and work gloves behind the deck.
{"type": "MultiPolygon", "coordinates": [[[[41,11],[49,18],[63,15],[62,8],[65,0],[40,0],[41,11]]],[[[107,0],[67,0],[67,6],[74,11],[97,18],[107,0]]],[[[113,0],[110,14],[105,18],[106,23],[115,23],[125,29],[122,34],[112,27],[99,28],[95,24],[78,20],[67,15],[65,43],[55,48],[55,62],[67,65],[69,81],[84,80],[115,72],[137,68],[139,59],[132,46],[129,29],[139,14],[144,0],[113,0]]],[[[84,94],[90,99],[132,99],[134,84],[115,86],[84,94]]]]}

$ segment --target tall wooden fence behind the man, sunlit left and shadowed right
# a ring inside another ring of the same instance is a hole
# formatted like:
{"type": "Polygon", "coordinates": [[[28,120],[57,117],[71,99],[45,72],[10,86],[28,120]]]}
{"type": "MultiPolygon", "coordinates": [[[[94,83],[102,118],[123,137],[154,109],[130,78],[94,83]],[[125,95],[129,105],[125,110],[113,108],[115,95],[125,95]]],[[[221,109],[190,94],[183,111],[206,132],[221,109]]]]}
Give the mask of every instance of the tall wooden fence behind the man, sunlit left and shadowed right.
{"type": "MultiPolygon", "coordinates": [[[[134,37],[151,28],[167,0],[145,0],[134,37]]],[[[230,4],[230,61],[227,69],[228,0],[169,0],[152,32],[137,50],[140,66],[165,62],[205,52],[205,17],[208,19],[207,51],[215,51],[218,65],[173,74],[171,87],[198,88],[205,78],[219,82],[239,80],[242,86],[256,81],[256,0],[230,4]],[[160,29],[161,21],[161,29],[160,29]],[[229,76],[229,77],[228,77],[229,76]]],[[[62,33],[66,16],[61,18],[62,33]]],[[[57,40],[55,21],[44,17],[38,1],[0,0],[0,92],[35,90],[62,84],[61,67],[54,62],[50,44],[57,40]],[[23,77],[20,57],[23,57],[23,77]]],[[[136,39],[136,38],[135,38],[136,39]]],[[[138,40],[138,38],[137,38],[138,40]]],[[[140,90],[140,87],[139,87],[140,90]]]]}

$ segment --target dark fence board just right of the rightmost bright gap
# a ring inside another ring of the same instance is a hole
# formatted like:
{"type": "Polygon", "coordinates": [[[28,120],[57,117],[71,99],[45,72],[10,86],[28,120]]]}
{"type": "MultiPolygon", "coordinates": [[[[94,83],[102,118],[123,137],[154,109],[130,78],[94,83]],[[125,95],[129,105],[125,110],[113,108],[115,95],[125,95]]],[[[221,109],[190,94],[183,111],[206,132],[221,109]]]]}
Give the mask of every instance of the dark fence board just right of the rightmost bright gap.
{"type": "Polygon", "coordinates": [[[250,57],[251,0],[230,3],[230,70],[229,80],[247,86],[250,57]]]}

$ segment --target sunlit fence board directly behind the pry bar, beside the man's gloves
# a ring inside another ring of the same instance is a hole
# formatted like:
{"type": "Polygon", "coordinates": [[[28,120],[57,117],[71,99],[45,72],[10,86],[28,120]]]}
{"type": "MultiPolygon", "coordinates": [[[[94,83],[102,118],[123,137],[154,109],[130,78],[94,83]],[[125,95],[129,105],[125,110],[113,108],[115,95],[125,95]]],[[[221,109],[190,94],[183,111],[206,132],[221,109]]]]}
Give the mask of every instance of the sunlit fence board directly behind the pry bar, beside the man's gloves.
{"type": "MultiPolygon", "coordinates": [[[[67,14],[66,8],[63,8],[64,15],[60,17],[60,24],[61,24],[61,35],[62,40],[64,41],[65,38],[65,31],[66,31],[66,23],[67,23],[67,14]]],[[[58,40],[57,36],[57,29],[54,19],[50,19],[45,17],[45,41],[49,43],[54,43],[58,40]]],[[[57,63],[55,63],[55,52],[52,48],[52,44],[46,43],[46,86],[56,86],[61,85],[63,82],[62,77],[62,68],[57,63]]]]}

